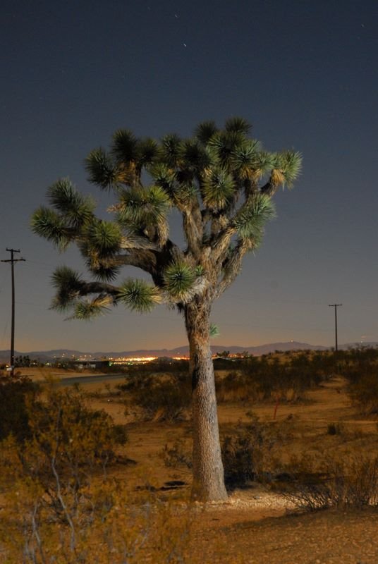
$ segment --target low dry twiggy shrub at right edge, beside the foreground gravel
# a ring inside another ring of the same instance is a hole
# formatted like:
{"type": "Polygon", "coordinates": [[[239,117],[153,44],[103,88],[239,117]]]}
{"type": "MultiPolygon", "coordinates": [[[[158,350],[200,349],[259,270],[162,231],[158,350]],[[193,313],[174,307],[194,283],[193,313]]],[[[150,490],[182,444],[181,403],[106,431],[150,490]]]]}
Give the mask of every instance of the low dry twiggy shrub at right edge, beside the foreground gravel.
{"type": "Polygon", "coordinates": [[[296,461],[284,495],[298,508],[362,508],[378,505],[378,457],[363,453],[296,461]]]}

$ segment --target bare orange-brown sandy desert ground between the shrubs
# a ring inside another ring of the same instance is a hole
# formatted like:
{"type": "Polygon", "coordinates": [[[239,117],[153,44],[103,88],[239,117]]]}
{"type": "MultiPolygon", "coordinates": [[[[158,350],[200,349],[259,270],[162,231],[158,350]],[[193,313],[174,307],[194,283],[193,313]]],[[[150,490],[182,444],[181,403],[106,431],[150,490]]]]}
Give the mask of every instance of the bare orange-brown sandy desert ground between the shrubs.
{"type": "MultiPolygon", "coordinates": [[[[41,369],[24,372],[32,379],[44,378],[41,369]]],[[[60,378],[67,373],[54,371],[53,375],[60,378]]],[[[181,448],[190,453],[190,421],[135,419],[116,395],[123,377],[106,379],[91,384],[84,384],[83,379],[82,388],[93,408],[105,410],[114,422],[127,427],[124,454],[133,464],[116,465],[112,472],[135,488],[149,482],[167,501],[181,503],[190,490],[190,469],[180,464],[167,466],[162,452],[164,446],[180,441],[181,448]]],[[[238,422],[247,422],[250,411],[280,432],[279,444],[267,453],[267,467],[277,459],[285,467],[303,455],[377,453],[377,417],[362,417],[355,410],[342,376],[333,376],[307,391],[303,399],[278,407],[274,402],[221,404],[221,435],[232,432],[238,422]],[[330,434],[329,424],[339,431],[330,434]]],[[[376,508],[304,512],[272,484],[251,482],[232,489],[227,503],[196,504],[185,553],[190,563],[377,564],[378,512],[376,508]]],[[[145,558],[140,561],[149,561],[145,558]]]]}

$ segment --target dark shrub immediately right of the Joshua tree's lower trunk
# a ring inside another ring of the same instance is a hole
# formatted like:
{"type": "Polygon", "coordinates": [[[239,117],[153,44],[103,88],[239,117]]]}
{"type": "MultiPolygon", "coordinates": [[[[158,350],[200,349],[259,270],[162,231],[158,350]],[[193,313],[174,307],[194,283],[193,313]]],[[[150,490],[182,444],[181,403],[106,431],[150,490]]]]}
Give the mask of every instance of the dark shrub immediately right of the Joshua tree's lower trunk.
{"type": "Polygon", "coordinates": [[[243,486],[262,478],[265,457],[276,441],[276,436],[267,424],[250,414],[246,424],[238,422],[232,434],[224,436],[221,453],[224,479],[230,488],[243,486]]]}

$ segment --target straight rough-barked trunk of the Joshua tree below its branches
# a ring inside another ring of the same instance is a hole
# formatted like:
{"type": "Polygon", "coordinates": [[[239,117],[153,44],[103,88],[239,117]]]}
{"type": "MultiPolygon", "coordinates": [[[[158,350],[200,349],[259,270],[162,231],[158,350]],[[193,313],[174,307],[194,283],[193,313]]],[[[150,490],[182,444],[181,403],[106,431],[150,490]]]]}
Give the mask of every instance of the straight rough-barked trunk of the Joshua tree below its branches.
{"type": "Polygon", "coordinates": [[[204,298],[185,306],[185,326],[190,345],[193,400],[192,497],[200,501],[227,498],[221,460],[214,366],[209,343],[211,304],[204,298]]]}

